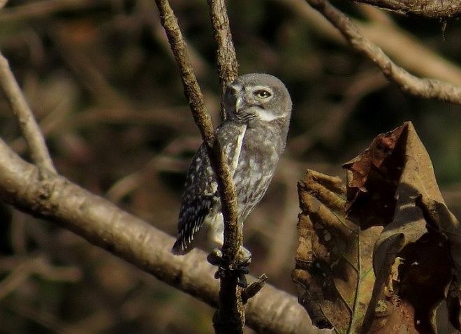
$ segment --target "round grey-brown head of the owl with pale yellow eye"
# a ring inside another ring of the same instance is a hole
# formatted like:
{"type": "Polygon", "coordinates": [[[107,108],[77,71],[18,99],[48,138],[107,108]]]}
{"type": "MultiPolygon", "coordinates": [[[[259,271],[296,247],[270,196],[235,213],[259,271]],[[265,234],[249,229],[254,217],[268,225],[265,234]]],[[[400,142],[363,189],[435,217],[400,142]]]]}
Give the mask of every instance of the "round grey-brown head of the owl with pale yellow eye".
{"type": "Polygon", "coordinates": [[[283,82],[263,73],[241,75],[226,89],[226,114],[241,122],[289,122],[291,98],[283,82]]]}

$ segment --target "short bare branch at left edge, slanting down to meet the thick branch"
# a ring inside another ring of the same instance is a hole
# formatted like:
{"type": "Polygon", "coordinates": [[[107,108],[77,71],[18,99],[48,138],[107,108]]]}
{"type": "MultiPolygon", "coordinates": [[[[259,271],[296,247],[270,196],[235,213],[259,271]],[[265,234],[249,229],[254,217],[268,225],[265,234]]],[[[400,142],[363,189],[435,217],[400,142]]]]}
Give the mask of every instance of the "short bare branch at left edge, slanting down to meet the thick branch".
{"type": "Polygon", "coordinates": [[[0,89],[6,96],[13,113],[22,131],[22,136],[27,141],[29,146],[29,154],[31,159],[38,166],[38,168],[46,168],[54,173],[56,169],[53,166],[50,153],[45,144],[45,138],[38,126],[32,110],[24,98],[15,76],[11,72],[8,60],[3,57],[0,52],[0,89]]]}

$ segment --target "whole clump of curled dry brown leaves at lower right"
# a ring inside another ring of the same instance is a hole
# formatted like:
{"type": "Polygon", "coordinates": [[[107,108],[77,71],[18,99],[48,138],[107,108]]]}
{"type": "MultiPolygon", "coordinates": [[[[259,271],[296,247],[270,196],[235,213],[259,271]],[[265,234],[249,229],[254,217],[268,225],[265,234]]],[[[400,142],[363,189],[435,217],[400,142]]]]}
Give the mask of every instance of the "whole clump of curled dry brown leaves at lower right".
{"type": "Polygon", "coordinates": [[[298,187],[293,279],[314,324],[339,333],[436,333],[445,298],[459,330],[461,227],[411,122],[376,137],[344,168],[345,190],[339,178],[312,171],[298,187]]]}

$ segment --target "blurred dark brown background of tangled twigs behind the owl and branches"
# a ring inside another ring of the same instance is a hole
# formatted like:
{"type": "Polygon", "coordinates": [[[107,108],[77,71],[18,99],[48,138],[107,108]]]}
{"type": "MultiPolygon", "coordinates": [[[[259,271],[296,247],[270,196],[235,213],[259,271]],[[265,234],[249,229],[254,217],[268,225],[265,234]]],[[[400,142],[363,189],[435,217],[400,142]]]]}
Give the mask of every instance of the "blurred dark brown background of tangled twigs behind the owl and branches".
{"type": "MultiPolygon", "coordinates": [[[[306,168],[343,177],[342,164],[405,120],[427,146],[448,205],[461,213],[460,106],[403,94],[302,2],[228,1],[240,73],[277,75],[293,98],[286,154],[244,231],[252,273],[268,273],[291,292],[296,182],[306,168]]],[[[206,1],[171,3],[217,125],[206,1]]],[[[397,64],[434,73],[426,57],[433,52],[432,59],[446,59],[435,73],[461,85],[460,20],[335,4],[369,34],[376,28],[378,45],[401,43],[390,52],[397,64]]],[[[0,48],[59,173],[175,234],[184,172],[200,136],[154,1],[10,0],[0,10],[0,48]]],[[[0,136],[27,157],[3,98],[0,136]]],[[[54,224],[6,206],[0,217],[0,333],[212,333],[207,305],[54,224]]]]}

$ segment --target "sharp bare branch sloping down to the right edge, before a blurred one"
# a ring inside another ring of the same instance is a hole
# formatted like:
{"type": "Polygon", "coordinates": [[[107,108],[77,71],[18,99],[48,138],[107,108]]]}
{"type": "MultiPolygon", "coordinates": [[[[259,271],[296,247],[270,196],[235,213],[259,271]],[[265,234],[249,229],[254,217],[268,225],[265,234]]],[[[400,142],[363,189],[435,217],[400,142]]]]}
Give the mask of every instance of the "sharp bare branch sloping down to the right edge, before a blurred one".
{"type": "Polygon", "coordinates": [[[363,36],[358,27],[349,20],[349,17],[337,10],[330,2],[327,0],[306,1],[335,26],[353,48],[372,59],[374,64],[381,68],[383,74],[396,82],[405,92],[424,99],[438,99],[461,104],[461,87],[440,80],[417,78],[411,75],[394,64],[380,48],[363,36]]]}

